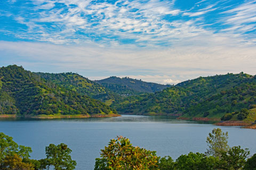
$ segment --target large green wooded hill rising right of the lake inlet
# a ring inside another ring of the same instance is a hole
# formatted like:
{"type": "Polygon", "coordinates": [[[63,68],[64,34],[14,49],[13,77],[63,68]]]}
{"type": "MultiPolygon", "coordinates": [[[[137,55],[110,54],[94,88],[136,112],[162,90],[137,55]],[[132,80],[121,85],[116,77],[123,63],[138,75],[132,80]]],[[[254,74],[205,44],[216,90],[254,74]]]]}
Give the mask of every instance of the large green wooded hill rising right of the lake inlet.
{"type": "Polygon", "coordinates": [[[155,94],[126,98],[114,107],[120,113],[220,118],[253,104],[256,77],[240,73],[188,80],[155,94]]]}

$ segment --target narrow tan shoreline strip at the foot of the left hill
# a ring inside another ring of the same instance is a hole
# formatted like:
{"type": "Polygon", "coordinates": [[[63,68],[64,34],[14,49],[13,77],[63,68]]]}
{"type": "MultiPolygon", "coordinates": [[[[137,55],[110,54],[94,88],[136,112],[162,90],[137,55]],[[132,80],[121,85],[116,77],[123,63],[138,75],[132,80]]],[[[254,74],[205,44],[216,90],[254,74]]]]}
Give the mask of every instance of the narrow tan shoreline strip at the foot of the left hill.
{"type": "Polygon", "coordinates": [[[0,114],[0,118],[38,118],[38,119],[53,119],[53,118],[102,118],[102,117],[118,117],[119,114],[108,114],[108,115],[8,115],[0,114]]]}

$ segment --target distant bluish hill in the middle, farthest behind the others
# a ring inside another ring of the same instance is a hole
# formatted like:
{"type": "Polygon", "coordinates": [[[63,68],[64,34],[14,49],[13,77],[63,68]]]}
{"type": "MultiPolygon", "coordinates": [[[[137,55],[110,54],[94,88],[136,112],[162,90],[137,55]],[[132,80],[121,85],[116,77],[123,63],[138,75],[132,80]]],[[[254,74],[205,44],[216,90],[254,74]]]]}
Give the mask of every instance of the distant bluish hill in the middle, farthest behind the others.
{"type": "Polygon", "coordinates": [[[163,84],[150,83],[127,77],[118,78],[115,76],[103,80],[96,80],[95,82],[123,96],[138,95],[145,92],[154,93],[170,87],[163,84]]]}

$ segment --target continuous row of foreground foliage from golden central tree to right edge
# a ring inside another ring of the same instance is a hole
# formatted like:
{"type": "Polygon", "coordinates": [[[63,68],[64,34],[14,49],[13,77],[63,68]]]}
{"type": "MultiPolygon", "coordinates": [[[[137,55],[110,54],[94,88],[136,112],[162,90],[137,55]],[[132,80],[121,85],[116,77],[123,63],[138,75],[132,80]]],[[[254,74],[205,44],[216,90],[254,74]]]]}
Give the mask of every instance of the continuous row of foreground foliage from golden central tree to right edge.
{"type": "Polygon", "coordinates": [[[213,156],[189,152],[187,155],[181,155],[175,162],[170,156],[159,158],[155,155],[155,151],[133,147],[129,139],[119,137],[110,140],[109,145],[101,150],[101,158],[95,159],[94,169],[255,170],[256,155],[246,161],[250,154],[249,150],[241,149],[240,146],[229,148],[227,137],[227,133],[213,129],[206,141],[210,144],[207,152],[212,153],[213,156]]]}

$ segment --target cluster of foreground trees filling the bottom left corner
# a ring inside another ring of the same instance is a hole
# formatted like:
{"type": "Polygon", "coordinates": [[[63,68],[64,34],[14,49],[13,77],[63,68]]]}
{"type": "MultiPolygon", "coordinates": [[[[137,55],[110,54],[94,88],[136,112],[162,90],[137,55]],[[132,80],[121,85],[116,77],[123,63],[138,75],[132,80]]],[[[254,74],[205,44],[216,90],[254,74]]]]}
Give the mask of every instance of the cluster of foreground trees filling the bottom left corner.
{"type": "Polygon", "coordinates": [[[75,169],[76,161],[71,159],[71,149],[61,143],[58,146],[50,144],[45,148],[46,158],[40,160],[29,159],[30,147],[18,145],[12,137],[0,133],[0,169],[3,170],[39,170],[49,169],[54,166],[55,170],[75,169]]]}

